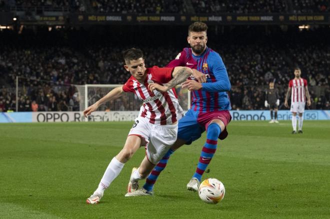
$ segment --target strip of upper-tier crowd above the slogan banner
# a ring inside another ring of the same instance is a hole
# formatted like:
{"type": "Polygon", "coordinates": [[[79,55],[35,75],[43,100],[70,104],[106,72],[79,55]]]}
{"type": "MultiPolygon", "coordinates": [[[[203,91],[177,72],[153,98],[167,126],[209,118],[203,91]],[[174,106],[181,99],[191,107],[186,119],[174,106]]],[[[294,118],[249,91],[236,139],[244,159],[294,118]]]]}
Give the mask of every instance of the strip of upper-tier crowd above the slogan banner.
{"type": "Polygon", "coordinates": [[[327,12],[329,0],[0,0],[0,10],[15,6],[101,13],[303,13],[327,12]]]}

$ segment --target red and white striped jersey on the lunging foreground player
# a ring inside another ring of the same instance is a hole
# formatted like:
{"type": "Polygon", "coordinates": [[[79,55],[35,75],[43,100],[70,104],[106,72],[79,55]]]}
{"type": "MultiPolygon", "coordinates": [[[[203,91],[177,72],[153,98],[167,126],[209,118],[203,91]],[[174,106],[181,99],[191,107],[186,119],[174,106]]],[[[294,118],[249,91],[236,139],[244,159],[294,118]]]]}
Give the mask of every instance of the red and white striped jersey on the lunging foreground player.
{"type": "Polygon", "coordinates": [[[151,92],[149,83],[163,84],[172,79],[173,68],[159,68],[153,66],[146,68],[144,84],[131,76],[122,86],[123,91],[132,92],[143,101],[139,116],[149,119],[149,122],[157,125],[169,125],[181,118],[183,110],[180,107],[174,89],[161,93],[157,90],[151,92]]]}

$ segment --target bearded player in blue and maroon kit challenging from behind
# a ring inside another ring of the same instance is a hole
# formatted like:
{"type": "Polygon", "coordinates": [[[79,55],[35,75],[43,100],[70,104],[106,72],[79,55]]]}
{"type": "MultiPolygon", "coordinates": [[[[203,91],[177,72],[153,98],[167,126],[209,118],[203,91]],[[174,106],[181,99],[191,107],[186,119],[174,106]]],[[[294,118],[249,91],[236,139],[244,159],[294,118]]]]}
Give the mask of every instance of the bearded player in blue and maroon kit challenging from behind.
{"type": "Polygon", "coordinates": [[[191,91],[192,98],[190,109],[179,120],[177,140],[152,170],[143,188],[127,193],[126,196],[151,195],[154,183],[170,155],[180,146],[190,145],[206,131],[206,142],[196,171],[187,184],[188,190],[197,191],[201,177],[217,148],[217,139],[223,140],[228,134],[226,126],[231,120],[231,106],[226,92],[230,90],[230,81],[220,55],[206,46],[206,31],[205,23],[192,23],[187,37],[190,48],[184,48],[166,66],[187,66],[193,69],[193,77],[182,84],[182,87],[191,91]]]}

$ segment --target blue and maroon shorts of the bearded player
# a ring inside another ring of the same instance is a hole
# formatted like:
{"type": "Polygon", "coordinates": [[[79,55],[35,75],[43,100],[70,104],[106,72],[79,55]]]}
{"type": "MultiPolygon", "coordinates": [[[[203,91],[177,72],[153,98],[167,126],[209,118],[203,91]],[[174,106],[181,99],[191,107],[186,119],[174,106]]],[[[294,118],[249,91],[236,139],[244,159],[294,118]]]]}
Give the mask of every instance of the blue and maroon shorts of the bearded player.
{"type": "MultiPolygon", "coordinates": [[[[182,119],[178,121],[177,138],[184,140],[186,145],[190,145],[193,141],[200,138],[213,119],[220,119],[226,127],[231,120],[231,116],[227,110],[199,113],[189,109],[182,119]]],[[[223,140],[227,135],[225,128],[218,138],[223,140]]]]}

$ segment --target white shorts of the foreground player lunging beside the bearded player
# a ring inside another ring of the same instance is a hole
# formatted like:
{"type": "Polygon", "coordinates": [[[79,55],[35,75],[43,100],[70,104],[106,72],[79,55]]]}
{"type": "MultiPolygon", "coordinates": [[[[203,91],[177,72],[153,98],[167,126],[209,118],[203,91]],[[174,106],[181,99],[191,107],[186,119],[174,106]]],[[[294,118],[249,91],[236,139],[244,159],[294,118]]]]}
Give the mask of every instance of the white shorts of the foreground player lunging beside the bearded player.
{"type": "Polygon", "coordinates": [[[144,139],[141,146],[145,146],[146,157],[154,165],[166,154],[175,143],[177,137],[177,123],[174,125],[154,125],[148,119],[137,117],[129,135],[140,136],[144,139]]]}

